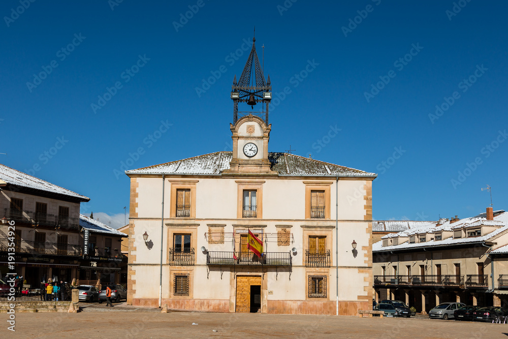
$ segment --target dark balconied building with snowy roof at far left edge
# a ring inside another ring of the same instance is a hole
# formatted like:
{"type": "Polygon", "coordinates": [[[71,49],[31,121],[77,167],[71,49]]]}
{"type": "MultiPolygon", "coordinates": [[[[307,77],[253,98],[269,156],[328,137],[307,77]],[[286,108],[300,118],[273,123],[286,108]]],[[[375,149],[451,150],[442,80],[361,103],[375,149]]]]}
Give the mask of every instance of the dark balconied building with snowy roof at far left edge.
{"type": "MultiPolygon", "coordinates": [[[[15,270],[27,284],[78,278],[79,207],[90,199],[0,164],[0,211],[14,221],[15,270]]],[[[0,272],[8,272],[8,229],[0,224],[0,272]]],[[[12,229],[11,229],[12,231],[12,229]]]]}

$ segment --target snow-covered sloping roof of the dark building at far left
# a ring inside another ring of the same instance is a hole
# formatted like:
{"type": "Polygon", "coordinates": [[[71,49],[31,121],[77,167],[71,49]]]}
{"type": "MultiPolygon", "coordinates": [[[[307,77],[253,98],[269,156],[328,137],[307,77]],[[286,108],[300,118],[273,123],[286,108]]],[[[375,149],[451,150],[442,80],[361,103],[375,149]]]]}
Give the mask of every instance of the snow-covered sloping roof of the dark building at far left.
{"type": "Polygon", "coordinates": [[[35,176],[28,175],[13,168],[7,167],[3,164],[0,164],[0,179],[4,180],[8,184],[12,184],[18,187],[57,193],[73,198],[78,198],[82,201],[90,200],[90,198],[87,198],[81,194],[77,194],[76,192],[70,191],[63,187],[56,186],[51,182],[36,178],[35,176]]]}

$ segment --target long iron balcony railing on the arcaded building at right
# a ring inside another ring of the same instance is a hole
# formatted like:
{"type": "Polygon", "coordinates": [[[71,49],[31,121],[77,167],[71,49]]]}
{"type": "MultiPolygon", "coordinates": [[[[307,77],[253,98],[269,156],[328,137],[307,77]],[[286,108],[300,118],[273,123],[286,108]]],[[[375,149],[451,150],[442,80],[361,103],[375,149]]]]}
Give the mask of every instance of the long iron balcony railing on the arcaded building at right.
{"type": "Polygon", "coordinates": [[[374,285],[464,286],[464,275],[374,275],[374,285]]]}

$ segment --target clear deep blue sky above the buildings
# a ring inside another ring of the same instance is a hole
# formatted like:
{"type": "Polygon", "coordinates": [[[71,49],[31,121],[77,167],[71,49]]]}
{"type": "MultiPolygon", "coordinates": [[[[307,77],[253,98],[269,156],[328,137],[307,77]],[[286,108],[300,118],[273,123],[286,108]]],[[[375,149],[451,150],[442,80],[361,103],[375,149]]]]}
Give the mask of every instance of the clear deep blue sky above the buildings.
{"type": "Polygon", "coordinates": [[[291,145],[378,173],[377,220],[475,215],[490,204],[487,184],[494,209],[506,209],[507,10],[475,0],[3,1],[0,163],[90,197],[83,213],[120,226],[125,167],[231,150],[229,92],[256,25],[279,99],[270,151],[291,145]]]}

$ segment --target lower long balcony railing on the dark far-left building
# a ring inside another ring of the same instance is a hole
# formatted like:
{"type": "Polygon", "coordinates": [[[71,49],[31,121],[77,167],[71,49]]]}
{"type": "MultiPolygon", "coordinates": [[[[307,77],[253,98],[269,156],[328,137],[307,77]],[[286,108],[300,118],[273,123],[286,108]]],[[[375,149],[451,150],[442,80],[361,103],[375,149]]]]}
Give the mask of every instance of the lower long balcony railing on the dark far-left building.
{"type": "MultiPolygon", "coordinates": [[[[81,245],[28,240],[14,240],[13,242],[15,253],[52,254],[60,256],[81,255],[81,245]]],[[[0,252],[7,252],[10,243],[11,241],[9,241],[9,239],[0,239],[0,252]]]]}

